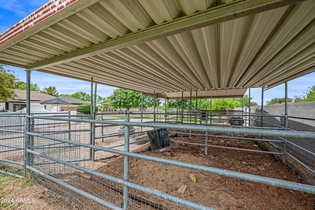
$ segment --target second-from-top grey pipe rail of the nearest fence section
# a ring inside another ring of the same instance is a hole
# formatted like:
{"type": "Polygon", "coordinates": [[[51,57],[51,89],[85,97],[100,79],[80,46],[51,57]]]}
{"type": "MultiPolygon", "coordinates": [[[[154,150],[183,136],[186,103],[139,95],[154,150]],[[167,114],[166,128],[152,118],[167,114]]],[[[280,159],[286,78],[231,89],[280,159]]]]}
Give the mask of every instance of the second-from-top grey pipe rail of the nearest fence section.
{"type": "MultiPolygon", "coordinates": [[[[126,123],[124,123],[124,124],[126,124],[126,123]]],[[[159,124],[159,125],[162,125],[162,124],[159,124]]],[[[150,126],[152,126],[152,124],[150,126]]],[[[149,155],[144,155],[144,154],[139,154],[139,153],[103,148],[103,147],[88,145],[88,144],[79,143],[79,142],[71,142],[68,140],[60,139],[60,138],[54,138],[54,137],[48,137],[48,136],[43,136],[43,135],[39,135],[39,134],[34,134],[32,132],[27,132],[27,134],[30,136],[36,136],[36,137],[46,138],[46,139],[55,140],[55,141],[59,141],[59,142],[63,142],[63,143],[87,147],[90,149],[102,150],[102,151],[121,154],[121,155],[129,156],[129,157],[135,157],[135,158],[154,161],[154,162],[158,162],[158,163],[164,163],[164,164],[168,164],[168,165],[172,165],[172,166],[178,166],[178,167],[188,168],[188,169],[197,170],[197,171],[209,172],[209,173],[217,174],[217,175],[221,175],[221,176],[226,176],[226,177],[231,177],[231,178],[236,178],[236,179],[241,179],[241,180],[247,180],[247,181],[254,181],[254,182],[258,182],[258,183],[269,184],[272,186],[278,186],[278,187],[283,187],[283,188],[287,188],[287,189],[298,190],[298,191],[302,191],[302,192],[315,194],[315,186],[312,186],[312,185],[296,183],[296,182],[291,182],[291,181],[285,181],[285,180],[277,180],[277,179],[273,179],[273,178],[267,178],[267,177],[262,177],[262,176],[257,176],[257,175],[251,175],[251,174],[240,173],[240,172],[229,171],[229,170],[223,170],[223,169],[218,169],[218,168],[213,168],[213,167],[208,167],[208,166],[202,166],[202,165],[197,165],[197,164],[191,164],[191,163],[186,163],[186,162],[181,162],[181,161],[164,159],[164,158],[159,158],[159,157],[149,156],[149,155]]]]}

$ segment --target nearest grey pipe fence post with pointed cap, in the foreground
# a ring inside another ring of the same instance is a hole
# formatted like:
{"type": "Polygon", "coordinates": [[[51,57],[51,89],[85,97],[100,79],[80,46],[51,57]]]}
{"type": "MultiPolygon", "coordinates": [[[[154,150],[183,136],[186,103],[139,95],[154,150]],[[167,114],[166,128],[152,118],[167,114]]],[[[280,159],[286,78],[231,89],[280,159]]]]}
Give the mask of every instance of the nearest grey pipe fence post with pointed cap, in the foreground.
{"type": "MultiPolygon", "coordinates": [[[[129,122],[129,111],[125,122],[129,122]]],[[[129,125],[125,125],[125,151],[129,151],[129,125]]],[[[124,180],[129,181],[129,156],[124,156],[124,180]]],[[[124,210],[129,209],[129,187],[124,185],[124,210]]]]}

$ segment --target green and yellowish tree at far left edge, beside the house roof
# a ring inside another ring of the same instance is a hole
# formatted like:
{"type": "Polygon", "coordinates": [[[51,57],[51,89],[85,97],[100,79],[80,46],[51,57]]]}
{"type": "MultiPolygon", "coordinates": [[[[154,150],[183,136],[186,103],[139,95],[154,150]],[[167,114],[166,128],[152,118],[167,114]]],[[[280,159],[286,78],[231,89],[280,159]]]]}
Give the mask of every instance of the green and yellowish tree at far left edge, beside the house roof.
{"type": "Polygon", "coordinates": [[[14,71],[0,64],[0,102],[7,102],[9,98],[14,99],[17,96],[14,92],[17,80],[14,71]]]}

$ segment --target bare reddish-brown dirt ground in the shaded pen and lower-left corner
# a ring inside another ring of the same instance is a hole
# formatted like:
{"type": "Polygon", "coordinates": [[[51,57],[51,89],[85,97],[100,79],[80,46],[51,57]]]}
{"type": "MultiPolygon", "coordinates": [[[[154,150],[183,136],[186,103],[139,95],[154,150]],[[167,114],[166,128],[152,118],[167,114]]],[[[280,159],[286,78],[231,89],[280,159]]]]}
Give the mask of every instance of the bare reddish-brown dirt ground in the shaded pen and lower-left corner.
{"type": "MultiPolygon", "coordinates": [[[[236,135],[233,135],[236,136],[236,135]]],[[[175,139],[179,141],[192,141],[202,143],[204,137],[188,137],[175,139]]],[[[218,146],[239,147],[246,149],[263,150],[252,141],[209,138],[211,144],[218,146]],[[224,141],[221,143],[221,141],[224,141]]],[[[154,155],[177,161],[195,163],[215,168],[232,170],[242,173],[270,177],[280,180],[301,182],[302,179],[292,170],[288,169],[274,155],[254,153],[239,150],[223,150],[209,148],[208,155],[204,154],[204,147],[185,143],[172,143],[172,149],[163,153],[153,153],[151,150],[141,151],[142,154],[154,155]]],[[[102,160],[104,163],[106,160],[102,160]]],[[[108,168],[122,172],[123,158],[108,160],[106,165],[96,171],[105,172],[108,168]]],[[[191,200],[201,205],[218,210],[314,210],[315,195],[302,193],[280,187],[223,177],[211,173],[194,171],[180,167],[163,165],[161,163],[130,158],[130,180],[144,186],[191,200]],[[192,182],[189,174],[194,174],[196,182],[192,182]],[[184,193],[178,190],[187,186],[184,193]]],[[[23,184],[16,181],[6,181],[1,184],[1,195],[14,198],[35,198],[35,203],[4,204],[0,209],[16,210],[54,210],[57,200],[47,200],[47,189],[35,184],[31,187],[21,188],[23,184]]],[[[62,202],[62,201],[60,201],[62,202]]],[[[63,209],[72,209],[71,206],[63,209]]],[[[170,208],[174,209],[174,208],[170,208]]],[[[176,208],[175,208],[176,209],[176,208]]]]}

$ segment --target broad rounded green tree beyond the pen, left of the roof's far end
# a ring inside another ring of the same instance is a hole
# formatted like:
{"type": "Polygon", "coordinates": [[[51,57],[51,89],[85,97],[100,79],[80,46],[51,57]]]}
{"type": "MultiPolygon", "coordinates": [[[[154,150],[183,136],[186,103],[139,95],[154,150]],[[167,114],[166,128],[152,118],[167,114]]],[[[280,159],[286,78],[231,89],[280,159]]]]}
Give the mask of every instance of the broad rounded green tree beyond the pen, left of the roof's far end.
{"type": "MultiPolygon", "coordinates": [[[[141,110],[141,93],[126,90],[126,89],[116,89],[110,96],[109,103],[113,108],[138,108],[141,110]]],[[[143,97],[143,107],[152,107],[154,99],[152,97],[143,97]]],[[[156,106],[160,104],[159,100],[156,99],[156,106]]]]}

